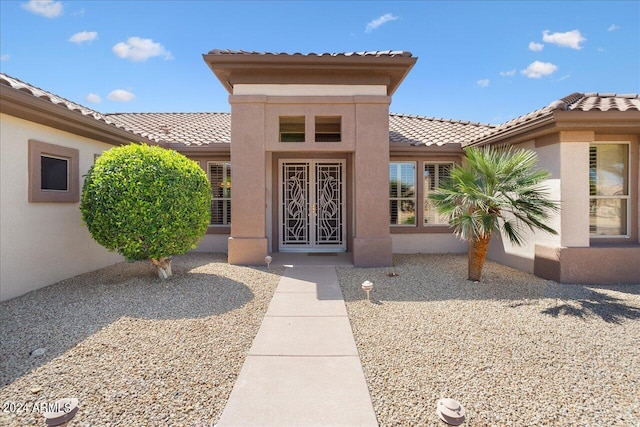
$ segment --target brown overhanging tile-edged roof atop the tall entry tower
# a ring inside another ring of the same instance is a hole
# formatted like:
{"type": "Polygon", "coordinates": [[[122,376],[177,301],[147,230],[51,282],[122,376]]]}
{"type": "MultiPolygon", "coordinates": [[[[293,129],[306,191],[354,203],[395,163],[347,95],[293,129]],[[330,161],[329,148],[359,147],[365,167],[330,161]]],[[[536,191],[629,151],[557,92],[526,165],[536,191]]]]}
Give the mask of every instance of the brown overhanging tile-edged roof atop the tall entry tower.
{"type": "Polygon", "coordinates": [[[303,55],[300,53],[274,54],[214,49],[203,54],[202,57],[230,94],[233,94],[233,85],[236,83],[236,79],[242,83],[248,83],[250,80],[247,80],[247,76],[253,73],[268,75],[267,78],[273,80],[273,83],[282,83],[278,77],[282,77],[283,73],[306,73],[310,78],[305,83],[312,83],[325,72],[331,73],[330,78],[333,79],[336,78],[337,73],[344,75],[367,73],[369,75],[377,74],[378,77],[387,76],[386,79],[380,80],[380,84],[387,86],[387,96],[391,96],[418,60],[406,51],[310,53],[303,55]],[[274,71],[276,71],[275,74],[274,71]]]}

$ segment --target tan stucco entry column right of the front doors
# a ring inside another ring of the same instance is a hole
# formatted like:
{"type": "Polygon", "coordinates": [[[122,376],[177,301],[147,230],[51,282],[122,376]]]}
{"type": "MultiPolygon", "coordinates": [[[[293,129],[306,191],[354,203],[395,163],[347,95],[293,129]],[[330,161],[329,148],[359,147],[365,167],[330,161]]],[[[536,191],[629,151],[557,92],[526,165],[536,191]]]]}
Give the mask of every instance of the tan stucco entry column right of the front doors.
{"type": "Polygon", "coordinates": [[[356,96],[353,264],[391,265],[389,232],[389,103],[387,96],[356,96]]]}

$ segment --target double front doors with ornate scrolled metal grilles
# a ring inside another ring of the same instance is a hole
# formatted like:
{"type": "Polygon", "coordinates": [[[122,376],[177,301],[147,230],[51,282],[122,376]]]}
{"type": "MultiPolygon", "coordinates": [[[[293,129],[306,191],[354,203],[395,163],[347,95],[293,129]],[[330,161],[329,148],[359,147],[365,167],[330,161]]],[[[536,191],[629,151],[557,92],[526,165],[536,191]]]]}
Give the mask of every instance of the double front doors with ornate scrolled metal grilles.
{"type": "Polygon", "coordinates": [[[344,252],[344,160],[280,160],[281,252],[344,252]]]}

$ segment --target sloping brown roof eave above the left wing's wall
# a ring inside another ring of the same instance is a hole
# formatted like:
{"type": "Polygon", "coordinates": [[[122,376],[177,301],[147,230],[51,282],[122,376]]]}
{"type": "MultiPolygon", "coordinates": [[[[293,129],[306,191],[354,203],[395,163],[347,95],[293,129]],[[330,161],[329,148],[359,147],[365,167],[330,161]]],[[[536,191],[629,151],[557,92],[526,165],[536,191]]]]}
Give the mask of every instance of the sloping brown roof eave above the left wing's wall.
{"type": "MultiPolygon", "coordinates": [[[[11,78],[14,79],[13,77],[11,78]]],[[[26,86],[24,89],[17,89],[8,84],[0,83],[0,113],[111,145],[129,144],[131,142],[164,145],[159,141],[105,121],[104,116],[93,110],[86,109],[89,114],[83,114],[76,109],[70,109],[77,106],[77,104],[71,102],[66,105],[56,104],[48,97],[38,97],[29,89],[29,87],[33,86],[26,83],[23,84],[26,86]]]]}

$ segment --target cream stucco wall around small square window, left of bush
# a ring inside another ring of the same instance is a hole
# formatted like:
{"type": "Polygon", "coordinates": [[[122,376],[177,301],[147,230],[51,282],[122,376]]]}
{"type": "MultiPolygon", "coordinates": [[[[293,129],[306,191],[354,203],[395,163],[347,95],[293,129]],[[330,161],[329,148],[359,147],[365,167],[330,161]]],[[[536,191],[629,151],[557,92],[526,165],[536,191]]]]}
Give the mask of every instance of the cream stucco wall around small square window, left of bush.
{"type": "Polygon", "coordinates": [[[89,235],[79,203],[28,202],[28,141],[80,151],[82,175],[109,144],[0,115],[0,300],[122,261],[89,235]]]}

